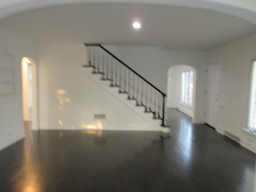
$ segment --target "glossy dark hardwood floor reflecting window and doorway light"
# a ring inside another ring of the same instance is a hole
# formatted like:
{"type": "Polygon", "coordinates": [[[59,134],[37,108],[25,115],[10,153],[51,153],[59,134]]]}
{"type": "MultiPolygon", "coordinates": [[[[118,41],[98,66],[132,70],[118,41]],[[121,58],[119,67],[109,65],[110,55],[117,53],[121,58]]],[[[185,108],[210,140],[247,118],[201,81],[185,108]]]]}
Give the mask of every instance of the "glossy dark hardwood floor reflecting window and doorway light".
{"type": "Polygon", "coordinates": [[[158,132],[26,131],[0,151],[0,192],[252,192],[255,154],[168,110],[158,132]]]}

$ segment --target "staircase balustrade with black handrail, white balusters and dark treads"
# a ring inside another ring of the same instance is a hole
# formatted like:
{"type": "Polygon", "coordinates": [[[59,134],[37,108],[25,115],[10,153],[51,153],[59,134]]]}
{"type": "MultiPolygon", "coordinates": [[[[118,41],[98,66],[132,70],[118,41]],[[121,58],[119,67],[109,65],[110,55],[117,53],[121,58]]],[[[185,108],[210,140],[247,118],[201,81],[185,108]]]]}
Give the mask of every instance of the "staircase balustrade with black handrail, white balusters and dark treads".
{"type": "Polygon", "coordinates": [[[88,64],[83,67],[92,68],[91,73],[99,75],[98,80],[107,82],[112,92],[117,89],[113,94],[123,95],[121,98],[119,96],[121,100],[133,101],[136,108],[144,108],[144,116],[151,117],[148,120],[151,126],[158,125],[163,133],[170,133],[170,125],[166,120],[166,94],[102,45],[84,45],[88,49],[88,64]]]}

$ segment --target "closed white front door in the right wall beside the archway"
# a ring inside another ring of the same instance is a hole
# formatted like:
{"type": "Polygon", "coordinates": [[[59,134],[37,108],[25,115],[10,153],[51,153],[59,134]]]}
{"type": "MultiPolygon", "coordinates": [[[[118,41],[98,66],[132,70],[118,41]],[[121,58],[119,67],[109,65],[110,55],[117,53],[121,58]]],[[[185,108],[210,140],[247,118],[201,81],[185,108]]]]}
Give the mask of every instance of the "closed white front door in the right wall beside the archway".
{"type": "Polygon", "coordinates": [[[208,66],[206,88],[206,123],[217,128],[220,86],[220,64],[208,66]]]}

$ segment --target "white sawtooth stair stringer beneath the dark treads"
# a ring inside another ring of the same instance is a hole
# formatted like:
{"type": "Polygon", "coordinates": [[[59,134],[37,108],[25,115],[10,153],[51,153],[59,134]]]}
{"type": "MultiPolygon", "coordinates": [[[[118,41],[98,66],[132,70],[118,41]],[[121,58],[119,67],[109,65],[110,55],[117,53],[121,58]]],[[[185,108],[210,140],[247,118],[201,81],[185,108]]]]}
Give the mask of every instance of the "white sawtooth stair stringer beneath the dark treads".
{"type": "MultiPolygon", "coordinates": [[[[160,119],[153,119],[152,113],[145,113],[145,108],[143,106],[136,106],[136,100],[127,100],[128,95],[124,93],[118,93],[118,87],[110,87],[109,80],[100,80],[102,74],[92,74],[92,68],[84,68],[84,74],[98,84],[101,88],[106,90],[112,96],[117,98],[120,102],[138,114],[141,118],[148,122],[148,128],[145,130],[147,131],[162,131],[162,127],[160,126],[161,120],[160,119]]],[[[141,130],[141,129],[140,129],[141,130]]]]}

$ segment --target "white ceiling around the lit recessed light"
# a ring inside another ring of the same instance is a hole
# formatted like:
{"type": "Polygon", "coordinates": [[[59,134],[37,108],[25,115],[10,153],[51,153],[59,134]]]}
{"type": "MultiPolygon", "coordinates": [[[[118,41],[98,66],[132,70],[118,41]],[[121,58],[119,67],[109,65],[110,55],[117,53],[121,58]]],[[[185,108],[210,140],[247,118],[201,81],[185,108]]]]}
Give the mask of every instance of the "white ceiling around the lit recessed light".
{"type": "Polygon", "coordinates": [[[248,21],[209,10],[146,4],[76,4],[40,8],[0,21],[36,42],[155,45],[209,49],[256,32],[248,21]],[[138,20],[142,28],[135,30],[138,20]]]}

